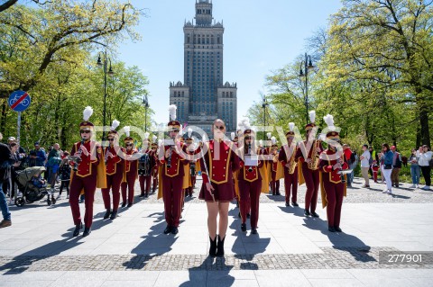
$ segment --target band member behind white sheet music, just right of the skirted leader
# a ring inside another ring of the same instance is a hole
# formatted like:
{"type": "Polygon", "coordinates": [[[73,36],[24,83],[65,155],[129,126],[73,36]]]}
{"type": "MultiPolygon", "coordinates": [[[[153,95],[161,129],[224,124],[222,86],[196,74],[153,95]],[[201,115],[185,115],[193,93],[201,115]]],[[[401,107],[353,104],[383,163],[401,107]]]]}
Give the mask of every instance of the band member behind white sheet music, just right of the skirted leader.
{"type": "MultiPolygon", "coordinates": [[[[251,233],[257,234],[257,222],[259,220],[259,202],[262,192],[262,175],[259,168],[263,167],[263,160],[258,160],[257,148],[255,147],[255,133],[251,129],[244,130],[244,145],[239,148],[241,155],[241,169],[238,174],[241,210],[241,230],[246,231],[246,214],[251,208],[251,233]],[[252,162],[255,157],[254,166],[248,165],[248,157],[252,162]]],[[[267,189],[267,184],[266,184],[267,189]]]]}

